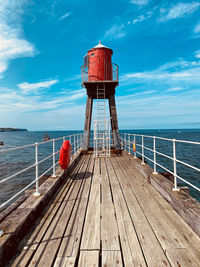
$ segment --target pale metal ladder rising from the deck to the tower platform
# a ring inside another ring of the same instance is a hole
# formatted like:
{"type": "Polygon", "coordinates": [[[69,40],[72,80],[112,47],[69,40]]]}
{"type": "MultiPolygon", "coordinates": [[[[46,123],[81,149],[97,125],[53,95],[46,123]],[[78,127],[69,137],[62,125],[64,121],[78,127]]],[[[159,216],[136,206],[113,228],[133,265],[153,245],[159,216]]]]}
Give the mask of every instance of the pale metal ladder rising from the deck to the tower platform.
{"type": "Polygon", "coordinates": [[[94,156],[110,157],[110,119],[106,118],[105,84],[103,87],[97,84],[94,156]]]}

